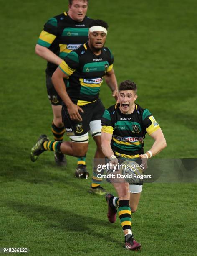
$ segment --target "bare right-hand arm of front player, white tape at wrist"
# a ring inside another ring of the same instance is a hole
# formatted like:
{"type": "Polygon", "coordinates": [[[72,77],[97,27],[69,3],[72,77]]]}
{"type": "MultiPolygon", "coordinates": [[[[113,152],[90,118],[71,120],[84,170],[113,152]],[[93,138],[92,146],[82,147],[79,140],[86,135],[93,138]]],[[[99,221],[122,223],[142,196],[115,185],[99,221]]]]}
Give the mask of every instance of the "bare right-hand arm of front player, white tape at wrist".
{"type": "Polygon", "coordinates": [[[140,155],[140,158],[150,158],[152,156],[155,156],[167,146],[167,143],[161,128],[158,128],[156,131],[151,133],[150,136],[154,139],[154,143],[152,147],[149,149],[149,151],[147,151],[143,155],[140,155]]]}

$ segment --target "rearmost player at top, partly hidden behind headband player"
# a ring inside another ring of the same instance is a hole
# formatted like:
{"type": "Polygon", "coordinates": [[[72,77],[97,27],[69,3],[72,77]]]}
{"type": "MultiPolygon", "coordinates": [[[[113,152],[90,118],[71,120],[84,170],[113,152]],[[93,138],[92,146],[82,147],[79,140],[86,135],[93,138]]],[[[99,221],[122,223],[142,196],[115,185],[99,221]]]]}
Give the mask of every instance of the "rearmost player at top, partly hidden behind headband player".
{"type": "MultiPolygon", "coordinates": [[[[46,87],[53,110],[51,130],[55,141],[63,140],[65,128],[61,117],[62,100],[53,86],[51,77],[66,55],[88,40],[92,19],[86,16],[87,10],[88,0],[69,0],[68,12],[61,13],[45,23],[35,46],[36,54],[47,61],[46,87]]],[[[55,161],[58,165],[66,165],[64,155],[57,151],[55,161]]],[[[78,158],[77,169],[85,165],[85,156],[78,158]]]]}

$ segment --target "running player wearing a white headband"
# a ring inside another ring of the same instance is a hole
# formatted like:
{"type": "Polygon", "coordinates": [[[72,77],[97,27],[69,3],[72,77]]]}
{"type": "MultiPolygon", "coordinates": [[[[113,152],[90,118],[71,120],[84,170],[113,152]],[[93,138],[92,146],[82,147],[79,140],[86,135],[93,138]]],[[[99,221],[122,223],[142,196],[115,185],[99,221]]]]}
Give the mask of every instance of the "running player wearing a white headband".
{"type": "MultiPolygon", "coordinates": [[[[104,106],[99,99],[99,91],[106,79],[117,99],[118,87],[113,70],[114,57],[110,49],[105,47],[107,23],[94,20],[89,28],[89,40],[83,46],[69,53],[53,73],[52,82],[63,101],[62,120],[66,133],[71,141],[49,141],[45,135],[40,136],[31,150],[31,160],[48,150],[58,153],[83,157],[88,150],[88,132],[96,142],[95,158],[104,158],[101,149],[101,117],[104,106]],[[64,79],[68,79],[65,87],[64,79]]],[[[104,195],[101,187],[102,179],[93,174],[91,193],[104,195]]],[[[86,169],[76,172],[78,177],[87,177],[86,169]]]]}

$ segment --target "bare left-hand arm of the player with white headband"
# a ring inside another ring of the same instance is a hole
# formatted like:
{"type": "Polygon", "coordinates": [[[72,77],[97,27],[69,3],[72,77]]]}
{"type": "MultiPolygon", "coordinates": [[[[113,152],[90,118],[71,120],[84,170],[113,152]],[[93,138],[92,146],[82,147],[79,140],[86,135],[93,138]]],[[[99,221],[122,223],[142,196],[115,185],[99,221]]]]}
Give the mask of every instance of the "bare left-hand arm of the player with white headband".
{"type": "Polygon", "coordinates": [[[61,99],[63,100],[64,104],[68,109],[68,113],[70,115],[71,120],[82,121],[81,115],[79,114],[78,110],[80,110],[81,112],[83,112],[83,110],[71,101],[71,98],[68,96],[68,93],[66,92],[66,86],[63,79],[68,79],[68,77],[68,74],[65,74],[61,70],[61,68],[58,67],[56,71],[53,73],[51,79],[58,95],[61,97],[61,99]]]}

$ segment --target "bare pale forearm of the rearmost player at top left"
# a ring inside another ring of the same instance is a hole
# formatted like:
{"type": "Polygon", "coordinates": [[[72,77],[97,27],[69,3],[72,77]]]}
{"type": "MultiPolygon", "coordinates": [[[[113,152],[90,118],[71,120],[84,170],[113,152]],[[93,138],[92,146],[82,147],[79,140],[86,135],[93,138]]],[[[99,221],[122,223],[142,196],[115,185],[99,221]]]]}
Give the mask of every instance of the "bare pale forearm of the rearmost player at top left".
{"type": "Polygon", "coordinates": [[[62,62],[62,59],[54,54],[51,50],[49,50],[46,46],[41,46],[40,44],[36,44],[35,53],[38,54],[43,59],[59,65],[62,62]]]}

